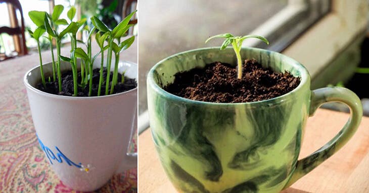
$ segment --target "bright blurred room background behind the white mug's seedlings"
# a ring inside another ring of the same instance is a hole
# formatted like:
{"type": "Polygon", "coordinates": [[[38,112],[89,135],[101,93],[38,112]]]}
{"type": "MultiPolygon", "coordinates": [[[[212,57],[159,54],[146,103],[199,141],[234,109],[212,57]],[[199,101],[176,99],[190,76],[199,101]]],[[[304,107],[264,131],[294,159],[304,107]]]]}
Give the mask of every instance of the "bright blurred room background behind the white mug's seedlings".
{"type": "MultiPolygon", "coordinates": [[[[75,20],[82,18],[90,18],[95,15],[98,16],[104,23],[110,28],[114,28],[121,20],[126,16],[126,13],[136,9],[137,0],[0,0],[0,61],[28,54],[28,52],[37,51],[36,41],[30,37],[27,29],[34,31],[36,25],[28,17],[28,12],[32,10],[45,11],[48,13],[53,12],[55,5],[63,5],[64,11],[61,18],[67,18],[67,12],[71,6],[75,6],[77,14],[75,20]],[[20,5],[23,14],[22,15],[18,6],[20,5]],[[24,38],[22,33],[12,35],[6,33],[4,27],[10,28],[24,28],[24,38]],[[23,50],[23,39],[26,45],[26,49],[23,50]]],[[[136,16],[134,16],[136,17],[136,16]]],[[[89,20],[87,20],[89,22],[89,20]]],[[[63,30],[61,28],[59,31],[63,30]]],[[[137,27],[135,26],[130,34],[137,34],[137,27]]],[[[79,33],[77,38],[82,38],[86,34],[79,33]]],[[[62,40],[64,45],[70,43],[69,36],[65,36],[62,40]]],[[[46,38],[40,39],[40,47],[42,50],[50,49],[49,40],[46,38]]]]}

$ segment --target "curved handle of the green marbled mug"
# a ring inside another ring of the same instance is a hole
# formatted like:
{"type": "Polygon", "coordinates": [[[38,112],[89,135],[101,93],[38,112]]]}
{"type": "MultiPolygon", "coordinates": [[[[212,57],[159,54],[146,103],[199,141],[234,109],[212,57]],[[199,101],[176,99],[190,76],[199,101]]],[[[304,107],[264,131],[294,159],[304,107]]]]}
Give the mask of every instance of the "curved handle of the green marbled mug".
{"type": "Polygon", "coordinates": [[[362,106],[359,97],[354,92],[342,87],[321,88],[312,91],[309,116],[314,115],[315,110],[326,102],[342,102],[346,104],[350,108],[350,118],[331,141],[309,156],[297,161],[296,168],[284,189],[340,150],[354,135],[360,124],[362,106]]]}

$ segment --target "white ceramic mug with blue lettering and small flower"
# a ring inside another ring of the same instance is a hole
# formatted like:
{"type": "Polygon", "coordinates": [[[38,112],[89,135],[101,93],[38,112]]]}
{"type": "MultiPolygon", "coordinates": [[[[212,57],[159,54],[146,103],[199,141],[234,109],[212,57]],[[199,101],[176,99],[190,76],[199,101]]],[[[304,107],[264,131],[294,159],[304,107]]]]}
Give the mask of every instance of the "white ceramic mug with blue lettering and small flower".
{"type": "MultiPolygon", "coordinates": [[[[96,62],[100,66],[100,61],[96,62]]],[[[114,67],[112,67],[114,68],[114,67]]],[[[61,71],[70,69],[61,63],[61,71]]],[[[137,66],[119,62],[119,72],[137,78],[137,66]]],[[[52,65],[43,65],[50,76],[52,65]]],[[[100,97],[69,97],[35,89],[39,67],[26,73],[32,119],[41,149],[64,184],[90,191],[104,185],[115,172],[136,167],[136,154],[126,154],[136,131],[137,88],[100,97]]]]}

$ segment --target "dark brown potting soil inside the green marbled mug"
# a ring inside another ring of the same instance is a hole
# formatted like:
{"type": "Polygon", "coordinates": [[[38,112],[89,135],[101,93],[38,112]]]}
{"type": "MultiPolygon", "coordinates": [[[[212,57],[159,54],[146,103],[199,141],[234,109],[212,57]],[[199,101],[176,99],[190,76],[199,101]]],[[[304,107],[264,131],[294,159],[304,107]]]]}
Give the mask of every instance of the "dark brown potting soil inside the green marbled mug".
{"type": "Polygon", "coordinates": [[[242,79],[237,67],[214,62],[205,68],[174,75],[174,82],[164,87],[174,95],[207,102],[239,103],[271,99],[284,95],[300,84],[300,77],[289,72],[264,69],[255,59],[245,60],[242,79]]]}

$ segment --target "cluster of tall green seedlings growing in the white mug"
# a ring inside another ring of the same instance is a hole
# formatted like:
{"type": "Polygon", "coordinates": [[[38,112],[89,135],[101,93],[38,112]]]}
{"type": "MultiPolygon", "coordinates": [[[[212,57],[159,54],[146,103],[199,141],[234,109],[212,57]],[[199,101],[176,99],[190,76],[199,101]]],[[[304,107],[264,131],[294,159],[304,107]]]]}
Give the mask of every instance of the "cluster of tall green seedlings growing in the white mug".
{"type": "MultiPolygon", "coordinates": [[[[132,12],[126,18],[123,19],[121,23],[119,23],[113,30],[109,29],[102,21],[100,21],[97,17],[91,17],[91,22],[93,23],[93,27],[89,27],[85,25],[86,19],[82,19],[80,21],[73,22],[74,16],[76,14],[76,9],[71,7],[67,13],[68,19],[70,23],[67,22],[65,19],[59,19],[60,15],[62,14],[64,7],[62,5],[57,5],[54,7],[54,11],[52,15],[49,15],[46,12],[39,12],[39,11],[31,11],[28,13],[29,17],[36,24],[37,29],[32,32],[29,31],[30,35],[36,40],[37,47],[38,47],[38,54],[40,58],[40,71],[41,71],[41,80],[44,87],[45,78],[43,75],[42,69],[42,58],[40,53],[40,46],[39,46],[39,38],[42,36],[44,32],[48,33],[48,36],[45,36],[49,39],[51,45],[51,52],[52,52],[52,59],[53,59],[53,80],[58,81],[59,92],[62,92],[62,77],[60,72],[60,60],[68,61],[72,67],[73,72],[73,96],[77,96],[78,94],[78,87],[84,88],[88,85],[88,96],[91,96],[92,92],[92,77],[93,77],[93,63],[96,58],[100,55],[102,56],[101,59],[101,71],[100,71],[100,81],[99,81],[99,91],[98,96],[101,95],[101,88],[104,82],[103,77],[103,64],[104,64],[104,50],[108,49],[108,57],[107,57],[107,80],[105,82],[105,95],[109,94],[109,83],[110,83],[110,67],[111,67],[111,59],[112,59],[112,51],[115,53],[115,68],[112,78],[112,83],[110,87],[110,94],[114,93],[114,86],[117,84],[117,76],[118,76],[118,61],[119,61],[119,53],[125,49],[127,49],[134,41],[134,36],[120,42],[120,38],[124,37],[126,31],[132,26],[128,25],[130,18],[136,12],[132,12]],[[61,25],[67,25],[67,27],[62,30],[60,33],[58,32],[58,28],[61,25]],[[91,53],[91,38],[93,33],[99,30],[96,34],[96,41],[100,47],[100,52],[96,53],[92,56],[91,53]],[[84,43],[81,40],[77,40],[76,34],[80,30],[85,30],[88,32],[87,42],[84,43]],[[104,33],[101,35],[100,33],[104,33]],[[69,34],[71,37],[71,54],[70,57],[60,55],[60,47],[61,47],[61,40],[66,35],[69,34]],[[57,48],[57,58],[55,62],[54,58],[54,51],[53,51],[53,40],[56,39],[56,48],[57,48]],[[108,45],[104,46],[105,40],[108,40],[108,45]],[[114,40],[117,41],[114,42],[114,40]],[[80,47],[77,47],[77,42],[83,43],[87,48],[87,53],[80,47]],[[81,59],[81,81],[80,84],[77,82],[77,58],[81,59]],[[55,76],[56,75],[56,76],[55,76]]],[[[49,82],[51,78],[49,77],[49,82]]]]}

